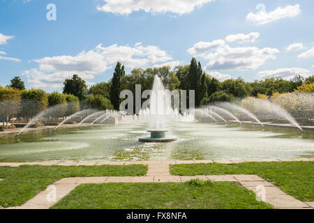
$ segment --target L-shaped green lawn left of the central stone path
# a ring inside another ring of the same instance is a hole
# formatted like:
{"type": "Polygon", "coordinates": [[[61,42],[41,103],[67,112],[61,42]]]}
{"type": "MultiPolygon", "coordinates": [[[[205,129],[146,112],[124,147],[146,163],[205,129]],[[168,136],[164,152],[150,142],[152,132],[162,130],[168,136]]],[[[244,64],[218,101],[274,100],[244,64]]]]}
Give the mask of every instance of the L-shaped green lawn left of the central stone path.
{"type": "Polygon", "coordinates": [[[67,177],[79,176],[144,176],[147,166],[79,166],[0,167],[0,208],[20,206],[48,185],[67,177]]]}

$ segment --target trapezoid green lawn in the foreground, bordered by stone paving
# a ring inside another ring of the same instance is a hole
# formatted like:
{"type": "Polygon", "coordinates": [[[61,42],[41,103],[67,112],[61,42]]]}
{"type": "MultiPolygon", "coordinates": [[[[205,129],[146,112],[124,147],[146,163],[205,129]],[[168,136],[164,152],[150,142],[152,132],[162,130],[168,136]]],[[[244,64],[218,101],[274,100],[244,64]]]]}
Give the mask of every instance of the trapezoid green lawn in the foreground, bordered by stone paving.
{"type": "Polygon", "coordinates": [[[237,183],[104,183],[80,185],[53,209],[259,209],[255,194],[237,183]]]}

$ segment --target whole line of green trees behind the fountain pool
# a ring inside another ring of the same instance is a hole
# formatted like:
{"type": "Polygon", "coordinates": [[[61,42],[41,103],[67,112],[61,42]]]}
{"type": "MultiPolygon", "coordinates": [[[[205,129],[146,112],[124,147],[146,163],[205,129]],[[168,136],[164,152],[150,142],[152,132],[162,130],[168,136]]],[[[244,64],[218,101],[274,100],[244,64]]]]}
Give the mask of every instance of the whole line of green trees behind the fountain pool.
{"type": "MultiPolygon", "coordinates": [[[[3,125],[13,117],[33,118],[48,107],[59,106],[57,112],[50,114],[51,118],[61,118],[75,114],[81,109],[116,109],[122,100],[119,94],[122,90],[130,90],[135,95],[135,85],[141,85],[141,91],[152,89],[154,77],[158,75],[170,91],[194,90],[195,106],[210,102],[232,101],[235,98],[256,97],[274,93],[313,92],[314,76],[304,79],[297,75],[291,80],[268,78],[245,82],[238,79],[227,79],[220,82],[202,70],[202,65],[196,59],[190,65],[161,68],[136,68],[126,74],[124,66],[117,63],[114,74],[109,82],[100,82],[87,87],[86,82],[78,75],[63,82],[63,92],[47,93],[42,89],[25,89],[20,77],[15,77],[6,87],[0,86],[0,117],[3,125]]],[[[143,99],[142,102],[144,102],[143,99]]]]}

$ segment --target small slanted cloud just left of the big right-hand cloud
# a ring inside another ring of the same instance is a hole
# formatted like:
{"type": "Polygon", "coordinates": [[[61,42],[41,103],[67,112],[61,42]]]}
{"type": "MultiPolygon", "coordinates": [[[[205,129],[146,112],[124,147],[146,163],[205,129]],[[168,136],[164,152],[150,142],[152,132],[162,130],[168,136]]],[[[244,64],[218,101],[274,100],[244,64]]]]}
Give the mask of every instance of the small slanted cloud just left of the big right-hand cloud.
{"type": "Polygon", "coordinates": [[[223,47],[225,40],[214,40],[213,42],[199,42],[188,49],[188,53],[193,56],[206,56],[209,52],[223,47]]]}

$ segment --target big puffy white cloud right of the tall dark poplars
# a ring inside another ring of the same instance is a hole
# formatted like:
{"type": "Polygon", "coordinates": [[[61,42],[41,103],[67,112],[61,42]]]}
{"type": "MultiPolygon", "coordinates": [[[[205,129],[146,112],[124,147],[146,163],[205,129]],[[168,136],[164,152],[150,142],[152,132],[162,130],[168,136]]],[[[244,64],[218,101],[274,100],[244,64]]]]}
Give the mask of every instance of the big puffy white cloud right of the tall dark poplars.
{"type": "Polygon", "coordinates": [[[276,59],[276,48],[220,47],[216,52],[208,54],[208,70],[254,70],[262,66],[268,59],[276,59]]]}

